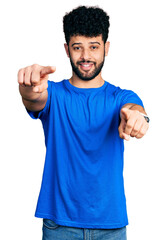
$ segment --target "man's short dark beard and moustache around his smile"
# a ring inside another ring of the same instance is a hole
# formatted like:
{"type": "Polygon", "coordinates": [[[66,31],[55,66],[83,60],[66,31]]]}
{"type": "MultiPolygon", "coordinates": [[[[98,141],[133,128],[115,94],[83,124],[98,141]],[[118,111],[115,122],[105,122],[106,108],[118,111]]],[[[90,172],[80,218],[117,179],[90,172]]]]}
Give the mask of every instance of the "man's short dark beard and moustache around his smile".
{"type": "Polygon", "coordinates": [[[99,73],[101,72],[102,68],[103,68],[103,65],[104,65],[104,60],[105,60],[105,52],[104,52],[104,57],[103,57],[103,61],[101,63],[99,63],[98,65],[96,64],[96,62],[92,62],[92,61],[86,61],[86,60],[83,60],[83,61],[78,61],[76,63],[76,65],[74,64],[74,62],[72,61],[71,59],[71,56],[70,56],[70,62],[71,62],[71,66],[72,66],[72,70],[73,72],[81,79],[81,80],[84,80],[84,81],[90,81],[92,79],[94,79],[95,77],[97,77],[99,75],[99,73]],[[95,69],[89,73],[88,72],[85,72],[85,73],[82,73],[80,70],[79,70],[79,67],[78,65],[80,65],[81,63],[93,63],[94,66],[95,66],[95,69]]]}

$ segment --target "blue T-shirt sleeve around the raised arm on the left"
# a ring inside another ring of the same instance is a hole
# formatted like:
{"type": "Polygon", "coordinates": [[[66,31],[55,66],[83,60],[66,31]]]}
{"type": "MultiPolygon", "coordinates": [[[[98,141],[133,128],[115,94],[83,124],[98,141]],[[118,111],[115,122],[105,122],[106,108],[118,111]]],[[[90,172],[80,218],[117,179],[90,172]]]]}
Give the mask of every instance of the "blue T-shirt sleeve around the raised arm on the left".
{"type": "Polygon", "coordinates": [[[29,111],[28,109],[27,110],[27,113],[29,114],[29,116],[33,119],[41,119],[41,120],[45,120],[48,113],[49,113],[49,109],[50,109],[50,102],[51,102],[51,95],[52,95],[52,84],[51,84],[51,81],[48,81],[48,88],[47,88],[47,91],[48,91],[48,98],[47,98],[47,102],[46,102],[46,105],[45,107],[41,110],[41,111],[36,111],[36,112],[33,112],[33,111],[29,111]]]}

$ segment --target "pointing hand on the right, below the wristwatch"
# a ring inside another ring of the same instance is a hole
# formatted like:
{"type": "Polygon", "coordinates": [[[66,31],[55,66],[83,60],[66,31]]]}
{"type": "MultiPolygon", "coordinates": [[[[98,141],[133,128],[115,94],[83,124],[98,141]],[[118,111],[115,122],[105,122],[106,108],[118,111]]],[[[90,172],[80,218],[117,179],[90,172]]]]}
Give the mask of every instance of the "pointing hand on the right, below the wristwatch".
{"type": "Polygon", "coordinates": [[[130,110],[128,108],[121,109],[121,123],[119,126],[120,138],[127,141],[131,137],[142,138],[147,130],[149,124],[144,117],[137,110],[130,110]]]}

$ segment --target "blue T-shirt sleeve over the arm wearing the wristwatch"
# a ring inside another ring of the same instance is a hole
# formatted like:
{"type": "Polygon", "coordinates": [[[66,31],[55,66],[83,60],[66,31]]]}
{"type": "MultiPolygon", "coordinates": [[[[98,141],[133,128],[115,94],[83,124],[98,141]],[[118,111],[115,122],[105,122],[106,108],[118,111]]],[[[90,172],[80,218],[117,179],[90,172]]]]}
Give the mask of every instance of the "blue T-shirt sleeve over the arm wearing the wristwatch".
{"type": "Polygon", "coordinates": [[[121,89],[119,92],[119,111],[121,111],[121,108],[127,103],[137,104],[144,108],[142,100],[135,92],[121,89]]]}

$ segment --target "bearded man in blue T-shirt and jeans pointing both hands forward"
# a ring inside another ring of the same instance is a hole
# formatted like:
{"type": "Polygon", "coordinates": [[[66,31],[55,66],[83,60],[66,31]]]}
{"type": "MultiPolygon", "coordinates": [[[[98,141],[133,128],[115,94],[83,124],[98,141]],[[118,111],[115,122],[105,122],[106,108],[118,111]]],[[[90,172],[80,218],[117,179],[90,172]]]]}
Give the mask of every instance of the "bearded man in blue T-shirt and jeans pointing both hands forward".
{"type": "Polygon", "coordinates": [[[142,138],[148,117],[140,98],[103,80],[109,17],[78,7],[63,18],[72,77],[48,81],[55,67],[20,69],[29,115],[42,121],[46,159],[35,216],[43,240],[126,239],[123,141],[142,138]]]}

